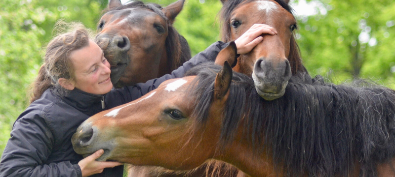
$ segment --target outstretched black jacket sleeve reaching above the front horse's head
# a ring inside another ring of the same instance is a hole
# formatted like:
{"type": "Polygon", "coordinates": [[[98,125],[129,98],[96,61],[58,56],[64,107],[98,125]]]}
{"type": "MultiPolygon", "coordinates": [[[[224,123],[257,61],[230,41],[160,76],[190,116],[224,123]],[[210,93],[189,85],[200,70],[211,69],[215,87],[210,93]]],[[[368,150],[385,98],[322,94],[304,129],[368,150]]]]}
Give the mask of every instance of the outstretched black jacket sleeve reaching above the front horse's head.
{"type": "Polygon", "coordinates": [[[121,89],[113,89],[106,95],[107,107],[111,109],[140,98],[151,90],[158,88],[162,82],[169,79],[181,78],[192,67],[200,63],[214,61],[218,53],[227,45],[228,43],[217,41],[208,46],[203,52],[198,53],[192,59],[185,62],[182,66],[172,71],[171,74],[166,74],[160,78],[149,80],[146,83],[139,83],[134,86],[125,86],[121,89]]]}

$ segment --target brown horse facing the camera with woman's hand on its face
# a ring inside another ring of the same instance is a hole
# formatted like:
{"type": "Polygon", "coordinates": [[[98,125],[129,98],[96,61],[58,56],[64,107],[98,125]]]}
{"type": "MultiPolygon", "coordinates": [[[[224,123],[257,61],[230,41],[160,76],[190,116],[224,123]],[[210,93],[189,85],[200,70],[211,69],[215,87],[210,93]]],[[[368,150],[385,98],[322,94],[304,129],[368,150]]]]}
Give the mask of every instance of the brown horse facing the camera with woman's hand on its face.
{"type": "Polygon", "coordinates": [[[263,35],[263,42],[250,53],[241,55],[233,69],[252,76],[259,95],[264,99],[281,97],[291,75],[307,73],[293,35],[297,26],[289,0],[221,1],[224,4],[220,13],[223,41],[237,39],[253,24],[266,24],[278,32],[276,35],[263,35]]]}

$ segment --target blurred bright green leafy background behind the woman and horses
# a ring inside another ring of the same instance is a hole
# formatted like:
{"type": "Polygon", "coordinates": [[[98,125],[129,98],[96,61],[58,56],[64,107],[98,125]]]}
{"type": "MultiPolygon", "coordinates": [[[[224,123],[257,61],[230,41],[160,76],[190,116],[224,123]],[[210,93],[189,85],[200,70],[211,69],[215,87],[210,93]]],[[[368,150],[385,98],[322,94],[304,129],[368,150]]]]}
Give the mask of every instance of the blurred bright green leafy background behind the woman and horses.
{"type": "MultiPolygon", "coordinates": [[[[145,0],[168,5],[174,0],[145,0]]],[[[0,1],[0,154],[12,124],[28,105],[43,48],[59,19],[96,29],[107,0],[0,1]]],[[[394,0],[291,0],[304,64],[335,83],[355,77],[395,89],[394,0]],[[297,5],[299,4],[299,5],[297,5]],[[300,9],[299,6],[308,6],[300,9]],[[298,11],[299,10],[299,11],[298,11]]],[[[219,0],[187,0],[174,26],[193,55],[219,40],[219,0]]]]}

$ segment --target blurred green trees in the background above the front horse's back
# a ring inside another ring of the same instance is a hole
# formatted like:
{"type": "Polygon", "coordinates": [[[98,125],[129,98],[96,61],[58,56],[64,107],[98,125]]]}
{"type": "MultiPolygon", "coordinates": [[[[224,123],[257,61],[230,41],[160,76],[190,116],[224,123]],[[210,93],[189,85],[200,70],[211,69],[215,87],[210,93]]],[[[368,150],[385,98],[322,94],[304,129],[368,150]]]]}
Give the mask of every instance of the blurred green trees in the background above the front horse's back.
{"type": "MultiPolygon", "coordinates": [[[[295,3],[302,2],[301,0],[295,3]]],[[[354,77],[394,85],[395,2],[312,0],[323,13],[298,16],[298,41],[313,74],[330,69],[340,82],[354,77]]],[[[298,13],[298,12],[296,12],[298,13]]]]}

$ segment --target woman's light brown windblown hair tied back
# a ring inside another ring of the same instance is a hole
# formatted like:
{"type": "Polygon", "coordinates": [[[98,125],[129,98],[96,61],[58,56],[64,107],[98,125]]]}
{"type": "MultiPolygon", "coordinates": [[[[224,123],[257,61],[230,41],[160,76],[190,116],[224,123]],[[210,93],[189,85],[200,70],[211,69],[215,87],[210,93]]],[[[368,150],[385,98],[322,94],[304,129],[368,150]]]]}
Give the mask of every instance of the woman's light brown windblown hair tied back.
{"type": "Polygon", "coordinates": [[[54,32],[55,37],[46,47],[39,75],[32,84],[30,103],[39,99],[42,93],[49,88],[58,89],[61,95],[67,93],[67,89],[62,88],[58,80],[60,78],[74,80],[74,68],[70,54],[88,46],[92,36],[92,32],[81,23],[66,23],[63,20],[56,23],[54,32]]]}

